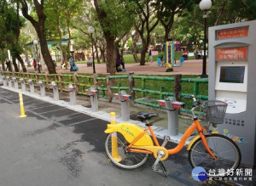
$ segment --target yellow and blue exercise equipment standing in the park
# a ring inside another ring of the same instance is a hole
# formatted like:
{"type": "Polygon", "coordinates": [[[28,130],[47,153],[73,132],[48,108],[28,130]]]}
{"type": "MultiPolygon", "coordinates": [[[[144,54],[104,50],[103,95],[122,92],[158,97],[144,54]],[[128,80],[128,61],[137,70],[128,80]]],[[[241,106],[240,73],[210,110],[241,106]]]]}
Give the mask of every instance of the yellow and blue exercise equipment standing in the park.
{"type": "Polygon", "coordinates": [[[180,67],[183,65],[184,59],[181,58],[179,65],[176,65],[174,59],[174,42],[165,43],[165,62],[166,62],[166,71],[173,71],[172,67],[180,67]]]}

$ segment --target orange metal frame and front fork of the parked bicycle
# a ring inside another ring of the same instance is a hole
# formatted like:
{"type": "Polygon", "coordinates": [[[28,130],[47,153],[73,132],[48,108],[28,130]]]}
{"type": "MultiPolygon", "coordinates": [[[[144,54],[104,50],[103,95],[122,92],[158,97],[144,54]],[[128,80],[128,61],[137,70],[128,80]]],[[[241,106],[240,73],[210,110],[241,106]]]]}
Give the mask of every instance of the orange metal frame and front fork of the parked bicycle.
{"type": "MultiPolygon", "coordinates": [[[[208,144],[207,144],[207,140],[206,140],[206,137],[202,131],[202,128],[201,128],[201,125],[200,125],[200,122],[198,120],[195,120],[193,122],[193,124],[186,130],[186,132],[184,132],[183,134],[183,137],[181,138],[180,142],[177,144],[177,146],[173,149],[167,149],[168,151],[168,154],[169,155],[173,155],[173,154],[177,154],[181,149],[183,149],[186,141],[188,140],[189,136],[191,135],[192,132],[195,131],[195,129],[197,130],[197,132],[200,134],[201,136],[201,140],[202,140],[202,143],[204,144],[205,148],[207,149],[207,152],[212,156],[213,159],[216,159],[216,156],[212,154],[212,150],[209,148],[208,144]]],[[[130,149],[131,151],[133,152],[139,152],[139,153],[147,153],[147,154],[153,154],[153,152],[151,151],[148,151],[148,150],[144,150],[144,149],[133,149],[131,146],[133,144],[135,144],[137,142],[137,140],[139,140],[140,138],[143,137],[143,135],[148,132],[148,130],[150,131],[151,135],[152,135],[152,138],[154,140],[154,144],[156,146],[160,146],[160,144],[158,143],[158,140],[157,138],[155,138],[155,135],[154,135],[154,131],[152,129],[152,127],[148,126],[148,128],[146,128],[144,130],[144,132],[142,132],[136,139],[134,139],[131,144],[129,144],[127,146],[128,149],[130,149]]]]}

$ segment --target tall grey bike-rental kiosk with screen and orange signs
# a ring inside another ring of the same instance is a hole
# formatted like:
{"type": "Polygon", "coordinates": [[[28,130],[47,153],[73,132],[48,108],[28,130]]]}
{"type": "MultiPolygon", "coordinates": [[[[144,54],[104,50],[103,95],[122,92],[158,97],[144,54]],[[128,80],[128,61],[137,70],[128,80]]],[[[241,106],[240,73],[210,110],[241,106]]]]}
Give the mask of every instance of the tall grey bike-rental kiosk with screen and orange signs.
{"type": "Polygon", "coordinates": [[[216,130],[236,142],[241,164],[255,166],[256,20],[210,27],[208,38],[209,100],[228,104],[216,130]]]}

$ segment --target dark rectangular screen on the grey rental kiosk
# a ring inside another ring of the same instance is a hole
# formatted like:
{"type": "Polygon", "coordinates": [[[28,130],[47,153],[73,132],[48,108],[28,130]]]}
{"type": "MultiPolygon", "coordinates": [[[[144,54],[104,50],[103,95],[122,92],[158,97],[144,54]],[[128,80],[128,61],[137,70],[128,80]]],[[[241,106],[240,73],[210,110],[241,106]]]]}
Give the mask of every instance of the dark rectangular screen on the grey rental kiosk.
{"type": "Polygon", "coordinates": [[[243,83],[245,66],[221,66],[219,82],[243,83]]]}

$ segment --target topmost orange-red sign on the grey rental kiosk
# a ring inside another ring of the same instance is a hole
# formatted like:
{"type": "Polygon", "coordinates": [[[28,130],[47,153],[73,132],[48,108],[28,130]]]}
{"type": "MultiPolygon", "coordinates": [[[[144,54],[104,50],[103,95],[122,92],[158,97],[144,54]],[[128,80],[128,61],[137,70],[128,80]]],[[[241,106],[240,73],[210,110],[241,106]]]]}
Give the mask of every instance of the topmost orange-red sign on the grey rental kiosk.
{"type": "Polygon", "coordinates": [[[231,28],[217,31],[217,39],[230,39],[235,37],[247,37],[248,27],[231,28]]]}

